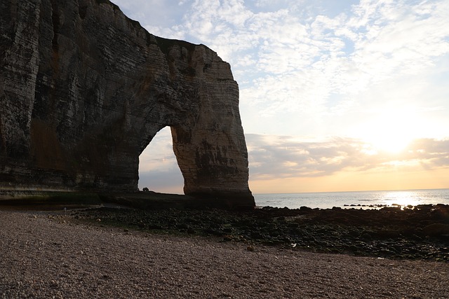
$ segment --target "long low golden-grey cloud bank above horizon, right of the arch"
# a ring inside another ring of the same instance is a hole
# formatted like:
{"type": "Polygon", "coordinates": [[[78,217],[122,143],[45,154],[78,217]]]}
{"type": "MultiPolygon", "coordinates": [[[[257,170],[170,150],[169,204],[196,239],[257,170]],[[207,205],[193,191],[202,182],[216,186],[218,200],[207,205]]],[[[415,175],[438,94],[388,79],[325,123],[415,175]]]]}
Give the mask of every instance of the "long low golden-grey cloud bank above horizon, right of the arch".
{"type": "Polygon", "coordinates": [[[326,141],[259,134],[246,137],[250,177],[255,180],[449,167],[449,139],[417,139],[403,152],[392,154],[347,137],[332,137],[326,141]]]}

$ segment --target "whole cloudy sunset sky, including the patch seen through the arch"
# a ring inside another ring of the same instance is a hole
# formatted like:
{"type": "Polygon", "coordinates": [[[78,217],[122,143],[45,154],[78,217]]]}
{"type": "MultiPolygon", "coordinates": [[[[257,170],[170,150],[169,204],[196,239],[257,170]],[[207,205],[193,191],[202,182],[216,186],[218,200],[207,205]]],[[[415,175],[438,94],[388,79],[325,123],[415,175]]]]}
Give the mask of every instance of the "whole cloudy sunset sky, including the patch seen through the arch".
{"type": "MultiPolygon", "coordinates": [[[[239,83],[253,193],[449,188],[449,1],[113,0],[239,83]]],[[[164,128],[140,188],[182,193],[164,128]]]]}

